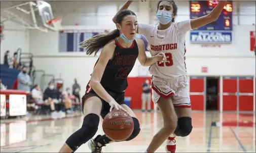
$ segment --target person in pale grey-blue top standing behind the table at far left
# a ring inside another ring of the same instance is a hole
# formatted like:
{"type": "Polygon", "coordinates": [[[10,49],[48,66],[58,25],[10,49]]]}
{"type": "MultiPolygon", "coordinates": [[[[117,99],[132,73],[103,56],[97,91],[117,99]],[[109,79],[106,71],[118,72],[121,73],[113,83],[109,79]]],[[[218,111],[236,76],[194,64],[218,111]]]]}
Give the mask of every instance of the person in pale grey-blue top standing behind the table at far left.
{"type": "Polygon", "coordinates": [[[18,74],[18,90],[24,90],[28,93],[30,92],[30,85],[32,85],[30,76],[27,74],[26,67],[23,67],[18,74]]]}

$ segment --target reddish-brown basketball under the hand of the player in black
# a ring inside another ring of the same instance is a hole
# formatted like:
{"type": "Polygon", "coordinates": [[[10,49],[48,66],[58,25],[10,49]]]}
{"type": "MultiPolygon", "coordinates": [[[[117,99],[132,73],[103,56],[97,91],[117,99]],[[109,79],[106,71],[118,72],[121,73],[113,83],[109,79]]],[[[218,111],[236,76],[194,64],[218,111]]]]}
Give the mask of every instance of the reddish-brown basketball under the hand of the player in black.
{"type": "Polygon", "coordinates": [[[132,134],[134,123],[132,117],[121,110],[113,109],[102,123],[102,128],[107,137],[114,141],[124,141],[132,134]]]}

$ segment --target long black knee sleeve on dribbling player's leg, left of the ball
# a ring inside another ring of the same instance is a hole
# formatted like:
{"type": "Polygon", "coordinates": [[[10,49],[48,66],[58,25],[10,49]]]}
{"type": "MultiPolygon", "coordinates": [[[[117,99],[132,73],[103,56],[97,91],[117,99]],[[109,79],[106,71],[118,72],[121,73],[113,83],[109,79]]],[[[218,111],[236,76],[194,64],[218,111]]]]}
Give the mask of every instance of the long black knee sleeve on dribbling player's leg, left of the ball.
{"type": "Polygon", "coordinates": [[[97,132],[99,125],[99,116],[96,114],[88,114],[84,118],[82,127],[75,133],[70,135],[66,140],[66,144],[76,151],[78,147],[90,140],[97,132]]]}

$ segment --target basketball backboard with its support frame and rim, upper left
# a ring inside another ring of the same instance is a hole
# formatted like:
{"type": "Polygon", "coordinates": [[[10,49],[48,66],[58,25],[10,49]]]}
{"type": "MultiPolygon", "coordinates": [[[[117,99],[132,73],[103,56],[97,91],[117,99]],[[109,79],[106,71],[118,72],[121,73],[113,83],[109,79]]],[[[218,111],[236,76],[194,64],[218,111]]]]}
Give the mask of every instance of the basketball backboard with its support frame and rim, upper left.
{"type": "Polygon", "coordinates": [[[8,20],[22,25],[18,28],[38,29],[43,32],[48,30],[57,31],[61,26],[61,20],[54,19],[51,5],[45,1],[26,3],[17,1],[14,6],[8,1],[3,1],[3,3],[1,1],[1,24],[8,20]],[[4,8],[2,8],[2,5],[4,8]],[[59,22],[47,24],[53,20],[59,22]]]}

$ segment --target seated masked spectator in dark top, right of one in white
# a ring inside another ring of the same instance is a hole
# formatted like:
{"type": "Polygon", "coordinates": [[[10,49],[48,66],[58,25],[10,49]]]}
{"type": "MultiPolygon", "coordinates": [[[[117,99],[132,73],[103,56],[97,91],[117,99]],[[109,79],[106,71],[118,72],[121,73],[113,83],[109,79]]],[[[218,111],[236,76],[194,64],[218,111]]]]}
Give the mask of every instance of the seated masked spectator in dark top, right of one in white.
{"type": "Polygon", "coordinates": [[[48,105],[53,104],[54,108],[51,105],[51,111],[52,111],[52,118],[63,118],[64,115],[61,110],[61,97],[59,94],[59,91],[54,89],[53,82],[48,83],[48,87],[45,89],[44,92],[44,100],[45,103],[48,105]]]}

